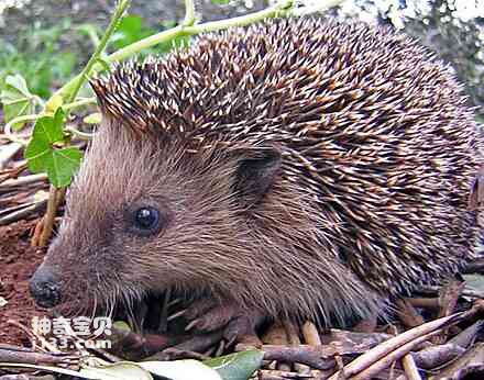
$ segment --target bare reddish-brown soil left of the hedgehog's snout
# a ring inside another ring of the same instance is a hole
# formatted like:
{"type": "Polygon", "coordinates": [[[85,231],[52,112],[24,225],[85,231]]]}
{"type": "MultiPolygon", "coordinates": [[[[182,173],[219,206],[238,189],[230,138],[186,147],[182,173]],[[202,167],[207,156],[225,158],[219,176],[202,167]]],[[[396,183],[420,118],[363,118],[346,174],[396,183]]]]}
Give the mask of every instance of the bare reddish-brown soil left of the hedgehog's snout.
{"type": "Polygon", "coordinates": [[[42,261],[44,253],[30,246],[34,221],[20,221],[0,226],[0,344],[29,346],[26,334],[9,324],[12,320],[31,327],[32,317],[46,314],[36,308],[29,294],[29,279],[42,261]]]}

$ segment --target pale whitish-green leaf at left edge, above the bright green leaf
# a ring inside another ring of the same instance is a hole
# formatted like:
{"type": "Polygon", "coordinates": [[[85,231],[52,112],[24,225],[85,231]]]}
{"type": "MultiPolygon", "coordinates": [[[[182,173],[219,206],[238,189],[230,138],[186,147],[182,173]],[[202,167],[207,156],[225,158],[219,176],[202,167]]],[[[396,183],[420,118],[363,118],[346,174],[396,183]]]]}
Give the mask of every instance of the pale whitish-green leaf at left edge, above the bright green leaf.
{"type": "MultiPolygon", "coordinates": [[[[25,79],[20,75],[6,78],[4,90],[0,93],[3,103],[3,118],[8,123],[12,119],[31,114],[33,112],[35,97],[30,93],[25,79]]],[[[25,123],[16,123],[15,130],[21,128],[25,123]]]]}

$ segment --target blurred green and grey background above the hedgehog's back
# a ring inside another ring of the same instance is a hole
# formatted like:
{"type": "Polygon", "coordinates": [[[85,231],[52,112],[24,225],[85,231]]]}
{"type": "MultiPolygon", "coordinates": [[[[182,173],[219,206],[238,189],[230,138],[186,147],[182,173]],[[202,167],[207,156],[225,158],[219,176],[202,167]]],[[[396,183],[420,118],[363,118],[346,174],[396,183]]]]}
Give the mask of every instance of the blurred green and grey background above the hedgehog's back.
{"type": "MultiPolygon", "coordinates": [[[[200,0],[204,21],[227,19],[264,9],[270,0],[200,0]]],[[[302,4],[318,0],[300,1],[302,4]]],[[[0,1],[0,90],[7,75],[22,75],[31,91],[47,98],[74,76],[92,52],[109,21],[114,0],[0,1]]],[[[133,0],[112,38],[116,51],[184,16],[180,0],[133,0]]],[[[348,0],[323,16],[358,18],[398,29],[450,63],[464,82],[469,101],[484,121],[484,0],[348,0]]],[[[146,53],[163,54],[170,46],[146,53]]]]}

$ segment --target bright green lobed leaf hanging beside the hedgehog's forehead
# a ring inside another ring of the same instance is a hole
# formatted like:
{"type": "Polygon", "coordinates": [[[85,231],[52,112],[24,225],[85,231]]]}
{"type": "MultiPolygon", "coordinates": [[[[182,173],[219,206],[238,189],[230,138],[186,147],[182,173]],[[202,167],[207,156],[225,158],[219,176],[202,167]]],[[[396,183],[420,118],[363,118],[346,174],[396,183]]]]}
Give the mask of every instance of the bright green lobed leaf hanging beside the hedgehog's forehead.
{"type": "Polygon", "coordinates": [[[29,169],[32,172],[46,172],[48,180],[56,188],[70,183],[82,157],[77,147],[57,148],[54,145],[64,143],[64,119],[62,108],[57,109],[54,116],[40,118],[24,152],[29,169]]]}

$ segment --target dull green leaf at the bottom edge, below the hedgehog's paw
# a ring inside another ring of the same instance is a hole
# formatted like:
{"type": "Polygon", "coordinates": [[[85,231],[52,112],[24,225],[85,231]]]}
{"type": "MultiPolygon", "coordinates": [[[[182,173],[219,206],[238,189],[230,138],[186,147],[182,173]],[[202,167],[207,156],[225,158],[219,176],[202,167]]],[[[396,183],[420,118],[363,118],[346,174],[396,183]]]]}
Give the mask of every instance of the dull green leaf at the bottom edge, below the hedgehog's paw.
{"type": "Polygon", "coordinates": [[[262,366],[264,353],[258,349],[235,353],[204,361],[223,380],[248,380],[262,366]]]}

